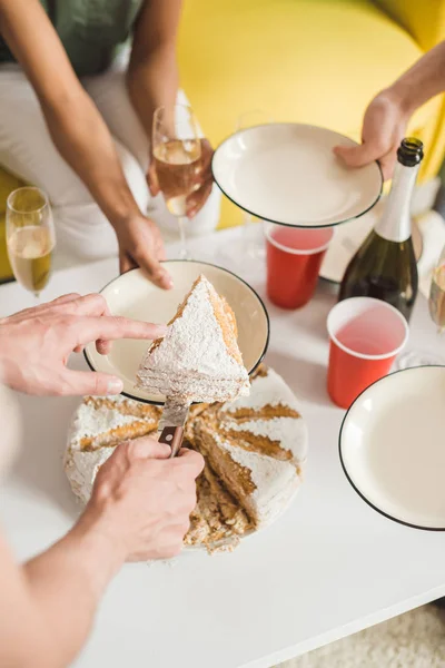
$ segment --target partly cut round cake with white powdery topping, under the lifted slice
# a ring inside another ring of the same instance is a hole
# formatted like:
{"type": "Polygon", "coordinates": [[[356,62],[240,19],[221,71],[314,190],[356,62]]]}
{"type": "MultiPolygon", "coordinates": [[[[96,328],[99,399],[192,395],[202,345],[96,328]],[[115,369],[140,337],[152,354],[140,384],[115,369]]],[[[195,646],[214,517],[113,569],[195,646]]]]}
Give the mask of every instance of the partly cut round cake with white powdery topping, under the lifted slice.
{"type": "MultiPolygon", "coordinates": [[[[128,399],[83,399],[65,462],[71,488],[83,503],[115,446],[155,436],[159,418],[159,407],[128,399]]],[[[275,371],[261,366],[249,396],[191,406],[185,444],[206,460],[185,544],[212,551],[233,548],[288,507],[301,480],[307,432],[290,389],[275,371]]]]}

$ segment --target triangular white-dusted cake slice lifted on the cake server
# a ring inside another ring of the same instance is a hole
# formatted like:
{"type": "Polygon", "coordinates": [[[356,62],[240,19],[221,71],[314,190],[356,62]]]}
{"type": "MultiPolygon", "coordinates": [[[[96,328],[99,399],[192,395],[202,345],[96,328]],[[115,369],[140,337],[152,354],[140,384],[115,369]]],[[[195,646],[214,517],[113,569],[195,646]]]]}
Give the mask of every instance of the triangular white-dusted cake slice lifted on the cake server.
{"type": "Polygon", "coordinates": [[[201,275],[139,367],[138,387],[191,402],[249,394],[234,312],[201,275]]]}

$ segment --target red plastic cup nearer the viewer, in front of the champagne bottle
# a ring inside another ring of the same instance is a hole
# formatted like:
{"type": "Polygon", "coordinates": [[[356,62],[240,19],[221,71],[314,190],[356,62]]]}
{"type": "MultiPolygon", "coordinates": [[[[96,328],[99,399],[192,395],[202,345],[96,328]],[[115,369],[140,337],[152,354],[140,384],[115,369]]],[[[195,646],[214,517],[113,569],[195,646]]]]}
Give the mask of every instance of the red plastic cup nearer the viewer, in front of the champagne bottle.
{"type": "Polygon", "coordinates": [[[337,406],[389,373],[408,340],[408,324],[397,308],[373,297],[339,302],[327,318],[330,337],[327,390],[337,406]]]}

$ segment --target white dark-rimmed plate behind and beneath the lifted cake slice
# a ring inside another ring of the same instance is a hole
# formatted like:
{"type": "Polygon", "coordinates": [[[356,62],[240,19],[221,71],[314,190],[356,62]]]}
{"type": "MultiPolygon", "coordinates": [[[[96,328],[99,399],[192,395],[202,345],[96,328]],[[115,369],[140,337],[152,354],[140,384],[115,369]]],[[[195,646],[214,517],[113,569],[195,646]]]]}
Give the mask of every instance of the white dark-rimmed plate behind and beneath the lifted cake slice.
{"type": "MultiPolygon", "coordinates": [[[[263,360],[269,342],[267,311],[254,288],[231,272],[211,264],[168,261],[165,265],[175,284],[170,291],[156,287],[140,269],[132,269],[109,283],[101,294],[111,313],[157,324],[167,323],[176,314],[196,278],[205,274],[234,310],[243,360],[247,371],[254,371],[263,360]]],[[[148,394],[135,386],[136,373],[148,345],[146,341],[116,341],[109,355],[99,355],[96,345],[91,343],[86,347],[85,356],[92,370],[122,379],[125,396],[160,404],[165,402],[164,396],[148,394]]]]}

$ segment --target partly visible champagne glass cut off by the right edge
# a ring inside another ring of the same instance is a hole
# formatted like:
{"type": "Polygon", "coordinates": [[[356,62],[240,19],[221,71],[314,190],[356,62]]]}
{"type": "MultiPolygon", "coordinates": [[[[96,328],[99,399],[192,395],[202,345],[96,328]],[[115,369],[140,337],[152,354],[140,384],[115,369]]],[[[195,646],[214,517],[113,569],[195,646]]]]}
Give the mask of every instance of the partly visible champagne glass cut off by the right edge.
{"type": "MultiPolygon", "coordinates": [[[[437,335],[445,333],[445,246],[442,249],[435,268],[433,269],[432,284],[428,298],[429,315],[437,326],[437,335]]],[[[445,337],[444,337],[445,345],[445,337]]],[[[397,369],[412,366],[445,365],[445,358],[429,352],[409,351],[397,361],[397,369]]]]}

